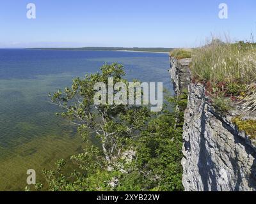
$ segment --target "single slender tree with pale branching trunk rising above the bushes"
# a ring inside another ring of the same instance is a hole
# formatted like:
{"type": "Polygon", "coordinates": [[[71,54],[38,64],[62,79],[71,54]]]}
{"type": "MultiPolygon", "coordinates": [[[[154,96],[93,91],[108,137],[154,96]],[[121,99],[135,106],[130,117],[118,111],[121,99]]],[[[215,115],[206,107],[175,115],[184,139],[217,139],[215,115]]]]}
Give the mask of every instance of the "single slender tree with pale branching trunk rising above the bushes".
{"type": "MultiPolygon", "coordinates": [[[[65,110],[63,117],[72,120],[80,130],[87,130],[100,138],[106,161],[111,167],[122,155],[127,144],[141,130],[147,128],[150,112],[143,106],[131,105],[95,105],[94,98],[97,82],[108,84],[109,77],[114,84],[124,82],[124,69],[121,64],[105,64],[101,73],[75,78],[70,88],[50,94],[52,103],[65,110]]],[[[114,92],[115,94],[115,92],[114,92]]]]}

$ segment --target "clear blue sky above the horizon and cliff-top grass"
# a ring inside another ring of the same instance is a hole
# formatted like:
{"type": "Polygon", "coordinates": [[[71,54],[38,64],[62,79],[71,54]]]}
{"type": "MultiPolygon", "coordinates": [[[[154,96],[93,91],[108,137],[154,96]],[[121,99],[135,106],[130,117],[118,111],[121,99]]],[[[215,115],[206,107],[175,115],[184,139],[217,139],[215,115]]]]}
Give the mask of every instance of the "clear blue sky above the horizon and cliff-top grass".
{"type": "MultiPolygon", "coordinates": [[[[256,36],[255,0],[1,0],[0,47],[195,47],[256,36]],[[36,19],[26,18],[28,3],[36,19]],[[228,19],[218,17],[228,5],[228,19]]],[[[256,37],[255,37],[256,38],[256,37]]]]}

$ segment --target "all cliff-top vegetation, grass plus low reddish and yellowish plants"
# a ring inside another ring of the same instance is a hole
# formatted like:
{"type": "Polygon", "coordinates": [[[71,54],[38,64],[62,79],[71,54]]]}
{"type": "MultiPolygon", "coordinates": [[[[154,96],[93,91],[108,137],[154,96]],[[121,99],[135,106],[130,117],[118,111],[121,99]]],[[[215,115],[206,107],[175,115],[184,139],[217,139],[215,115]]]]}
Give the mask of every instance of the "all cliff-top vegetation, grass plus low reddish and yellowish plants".
{"type": "MultiPolygon", "coordinates": [[[[239,105],[244,112],[256,110],[256,43],[214,39],[193,50],[191,72],[195,82],[205,84],[212,105],[221,113],[239,105]]],[[[239,130],[256,138],[256,121],[235,117],[239,130]]]]}

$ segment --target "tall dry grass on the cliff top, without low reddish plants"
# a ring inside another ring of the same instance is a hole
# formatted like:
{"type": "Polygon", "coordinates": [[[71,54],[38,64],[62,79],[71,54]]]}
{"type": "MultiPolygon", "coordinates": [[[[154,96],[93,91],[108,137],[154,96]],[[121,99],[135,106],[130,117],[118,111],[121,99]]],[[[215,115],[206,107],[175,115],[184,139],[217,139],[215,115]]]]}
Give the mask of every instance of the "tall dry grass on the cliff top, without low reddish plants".
{"type": "MultiPolygon", "coordinates": [[[[256,110],[256,45],[212,40],[204,47],[193,50],[191,71],[200,82],[213,86],[230,84],[246,87],[243,91],[243,108],[256,110]]],[[[234,86],[233,86],[234,87],[234,86]]],[[[228,92],[228,90],[227,90],[228,92]]]]}

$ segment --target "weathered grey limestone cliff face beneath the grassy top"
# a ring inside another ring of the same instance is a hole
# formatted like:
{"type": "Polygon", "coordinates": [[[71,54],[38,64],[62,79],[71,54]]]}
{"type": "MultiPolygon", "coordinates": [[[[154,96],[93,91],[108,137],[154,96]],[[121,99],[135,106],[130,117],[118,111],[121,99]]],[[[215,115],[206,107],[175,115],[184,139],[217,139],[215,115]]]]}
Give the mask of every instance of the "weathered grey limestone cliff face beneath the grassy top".
{"type": "Polygon", "coordinates": [[[175,91],[188,89],[189,94],[182,149],[185,190],[255,191],[256,146],[231,122],[238,111],[220,115],[205,96],[204,85],[190,82],[190,60],[170,61],[175,91]]]}

